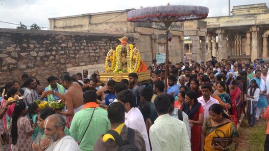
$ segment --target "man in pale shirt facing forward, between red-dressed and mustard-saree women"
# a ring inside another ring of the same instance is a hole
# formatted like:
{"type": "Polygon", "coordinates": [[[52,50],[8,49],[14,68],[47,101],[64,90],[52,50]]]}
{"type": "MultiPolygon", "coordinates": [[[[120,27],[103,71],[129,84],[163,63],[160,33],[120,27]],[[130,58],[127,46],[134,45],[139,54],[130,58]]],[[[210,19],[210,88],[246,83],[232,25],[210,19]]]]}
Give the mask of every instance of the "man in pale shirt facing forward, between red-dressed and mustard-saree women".
{"type": "Polygon", "coordinates": [[[203,96],[199,97],[197,100],[200,104],[202,104],[204,108],[204,121],[205,121],[206,117],[209,116],[208,109],[213,104],[220,104],[220,102],[211,97],[211,92],[212,92],[211,84],[203,84],[201,89],[202,89],[203,96]]]}

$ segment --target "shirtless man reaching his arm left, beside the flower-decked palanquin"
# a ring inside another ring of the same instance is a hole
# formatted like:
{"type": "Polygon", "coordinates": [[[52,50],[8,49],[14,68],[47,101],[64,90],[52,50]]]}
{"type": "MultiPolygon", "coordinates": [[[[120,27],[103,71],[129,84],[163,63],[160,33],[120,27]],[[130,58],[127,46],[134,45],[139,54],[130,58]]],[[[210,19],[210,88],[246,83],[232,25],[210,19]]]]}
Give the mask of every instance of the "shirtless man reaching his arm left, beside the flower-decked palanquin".
{"type": "Polygon", "coordinates": [[[60,77],[62,85],[67,89],[65,94],[60,94],[58,92],[48,90],[42,93],[43,97],[47,97],[50,94],[53,94],[59,97],[62,101],[65,101],[66,111],[57,110],[59,114],[66,116],[71,116],[83,108],[83,92],[81,86],[77,82],[73,82],[69,74],[64,73],[60,77]]]}

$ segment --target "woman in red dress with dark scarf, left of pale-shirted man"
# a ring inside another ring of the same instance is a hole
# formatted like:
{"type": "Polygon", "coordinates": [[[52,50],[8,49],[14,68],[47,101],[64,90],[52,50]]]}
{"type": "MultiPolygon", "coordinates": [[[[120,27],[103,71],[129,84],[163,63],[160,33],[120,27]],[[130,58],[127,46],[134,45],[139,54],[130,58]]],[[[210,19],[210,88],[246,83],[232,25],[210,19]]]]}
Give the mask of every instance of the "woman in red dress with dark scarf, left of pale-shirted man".
{"type": "Polygon", "coordinates": [[[203,125],[204,120],[204,108],[197,101],[197,94],[195,91],[188,90],[185,93],[185,102],[182,103],[180,109],[189,116],[192,151],[200,151],[201,126],[203,125]]]}

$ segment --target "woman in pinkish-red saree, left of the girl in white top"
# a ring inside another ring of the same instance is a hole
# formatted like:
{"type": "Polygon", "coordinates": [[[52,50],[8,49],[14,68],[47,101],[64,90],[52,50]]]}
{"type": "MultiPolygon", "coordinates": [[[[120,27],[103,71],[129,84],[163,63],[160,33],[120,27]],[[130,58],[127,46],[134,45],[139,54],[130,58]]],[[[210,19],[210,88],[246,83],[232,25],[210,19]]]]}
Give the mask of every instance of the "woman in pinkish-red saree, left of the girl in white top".
{"type": "Polygon", "coordinates": [[[239,123],[239,118],[238,118],[238,114],[240,114],[240,112],[237,112],[239,107],[239,104],[242,102],[242,95],[241,95],[241,90],[238,87],[238,81],[237,80],[233,80],[232,81],[232,85],[229,86],[230,89],[230,97],[232,100],[232,110],[233,110],[233,115],[235,117],[235,125],[237,125],[237,123],[239,123]]]}

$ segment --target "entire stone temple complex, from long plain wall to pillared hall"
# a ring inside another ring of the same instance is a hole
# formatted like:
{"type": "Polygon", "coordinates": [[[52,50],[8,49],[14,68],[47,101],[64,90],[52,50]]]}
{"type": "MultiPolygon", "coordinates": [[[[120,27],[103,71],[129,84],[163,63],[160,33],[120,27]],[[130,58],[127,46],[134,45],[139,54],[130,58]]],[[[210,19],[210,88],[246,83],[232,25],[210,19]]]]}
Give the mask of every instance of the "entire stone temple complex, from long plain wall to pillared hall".
{"type": "MultiPolygon", "coordinates": [[[[165,27],[162,23],[127,22],[133,9],[49,18],[51,30],[122,34],[134,38],[147,65],[157,55],[165,55],[165,27]]],[[[176,22],[171,25],[170,60],[269,59],[269,8],[266,3],[233,6],[231,16],[176,22]],[[189,41],[184,41],[189,37],[189,41]]],[[[161,57],[163,58],[163,57],[161,57]]]]}

